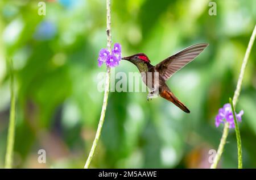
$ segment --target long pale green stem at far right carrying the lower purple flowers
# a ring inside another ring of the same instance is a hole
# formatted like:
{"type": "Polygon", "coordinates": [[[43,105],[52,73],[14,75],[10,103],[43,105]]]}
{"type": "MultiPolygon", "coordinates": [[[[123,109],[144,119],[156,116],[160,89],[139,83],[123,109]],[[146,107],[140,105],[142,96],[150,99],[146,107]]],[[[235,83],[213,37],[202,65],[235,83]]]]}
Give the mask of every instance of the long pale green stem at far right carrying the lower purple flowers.
{"type": "MultiPolygon", "coordinates": [[[[256,36],[256,25],[254,26],[253,34],[251,34],[251,38],[250,38],[249,44],[248,44],[246,52],[245,52],[245,57],[243,57],[243,62],[242,62],[241,70],[240,70],[240,75],[239,75],[239,78],[238,78],[236,91],[235,91],[234,97],[233,97],[233,106],[234,107],[236,107],[237,100],[238,100],[238,97],[240,95],[243,76],[245,74],[245,68],[246,68],[247,61],[248,61],[248,58],[249,58],[249,55],[250,55],[250,52],[251,52],[251,48],[253,47],[255,36],[256,36]]],[[[222,134],[222,137],[221,137],[221,143],[218,146],[217,154],[214,157],[213,164],[210,166],[211,169],[216,169],[217,165],[218,165],[218,161],[220,161],[220,157],[221,157],[221,154],[223,152],[224,145],[225,145],[225,143],[223,144],[222,141],[226,142],[226,137],[228,136],[228,129],[229,129],[229,125],[228,125],[228,122],[226,122],[225,125],[224,125],[223,134],[222,134]],[[227,134],[225,135],[225,133],[227,133],[227,134]]]]}

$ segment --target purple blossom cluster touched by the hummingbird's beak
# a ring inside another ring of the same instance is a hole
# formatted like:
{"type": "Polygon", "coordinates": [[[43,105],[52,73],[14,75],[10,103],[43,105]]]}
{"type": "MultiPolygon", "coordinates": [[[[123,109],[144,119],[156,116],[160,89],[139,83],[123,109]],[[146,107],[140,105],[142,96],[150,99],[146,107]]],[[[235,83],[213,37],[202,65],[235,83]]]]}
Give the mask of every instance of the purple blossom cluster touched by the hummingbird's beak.
{"type": "Polygon", "coordinates": [[[107,49],[101,49],[98,55],[98,66],[101,66],[104,62],[110,68],[119,65],[121,61],[121,45],[119,43],[114,44],[112,49],[112,54],[107,49]]]}

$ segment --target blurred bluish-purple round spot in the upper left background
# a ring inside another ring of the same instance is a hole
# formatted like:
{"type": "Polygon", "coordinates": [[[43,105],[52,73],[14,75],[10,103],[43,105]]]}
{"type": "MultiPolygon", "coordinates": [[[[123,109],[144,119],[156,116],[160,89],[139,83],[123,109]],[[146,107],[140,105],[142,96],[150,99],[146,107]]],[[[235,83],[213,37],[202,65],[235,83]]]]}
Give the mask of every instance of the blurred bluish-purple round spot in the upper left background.
{"type": "Polygon", "coordinates": [[[57,32],[57,27],[54,23],[50,21],[41,22],[36,28],[35,39],[36,40],[50,40],[57,32]]]}

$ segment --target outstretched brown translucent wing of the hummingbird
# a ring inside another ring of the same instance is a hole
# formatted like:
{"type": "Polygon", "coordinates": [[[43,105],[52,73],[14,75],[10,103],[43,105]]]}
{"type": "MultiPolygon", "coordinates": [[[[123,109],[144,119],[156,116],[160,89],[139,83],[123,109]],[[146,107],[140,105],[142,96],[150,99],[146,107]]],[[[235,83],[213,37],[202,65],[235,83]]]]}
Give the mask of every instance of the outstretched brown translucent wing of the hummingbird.
{"type": "Polygon", "coordinates": [[[159,72],[159,75],[163,77],[164,81],[167,81],[172,74],[194,60],[208,45],[208,43],[191,45],[175,55],[166,58],[162,62],[159,62],[159,64],[155,65],[155,69],[159,72]]]}

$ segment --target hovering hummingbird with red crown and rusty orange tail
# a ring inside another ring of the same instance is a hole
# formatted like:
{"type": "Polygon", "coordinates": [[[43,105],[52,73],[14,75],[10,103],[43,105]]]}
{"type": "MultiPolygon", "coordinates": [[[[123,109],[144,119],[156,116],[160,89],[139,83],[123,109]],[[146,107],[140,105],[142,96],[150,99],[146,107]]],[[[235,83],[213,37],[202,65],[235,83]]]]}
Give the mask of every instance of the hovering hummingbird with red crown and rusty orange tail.
{"type": "Polygon", "coordinates": [[[160,95],[160,97],[174,103],[184,112],[189,113],[188,108],[175,97],[166,85],[166,81],[178,70],[193,61],[208,45],[208,43],[191,45],[156,65],[150,64],[150,59],[144,53],[122,57],[122,60],[130,61],[139,69],[142,81],[150,89],[147,101],[160,95]]]}

